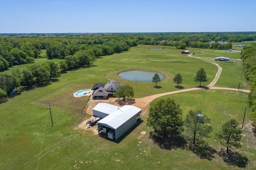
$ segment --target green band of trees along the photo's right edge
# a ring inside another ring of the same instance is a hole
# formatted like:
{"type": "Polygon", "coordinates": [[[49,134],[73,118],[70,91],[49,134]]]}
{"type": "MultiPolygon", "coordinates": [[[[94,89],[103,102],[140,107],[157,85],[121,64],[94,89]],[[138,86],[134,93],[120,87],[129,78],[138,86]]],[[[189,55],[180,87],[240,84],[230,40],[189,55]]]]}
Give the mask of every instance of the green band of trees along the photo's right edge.
{"type": "Polygon", "coordinates": [[[248,95],[250,118],[256,126],[256,43],[243,48],[242,59],[244,61],[246,78],[250,85],[250,93],[248,95]]]}

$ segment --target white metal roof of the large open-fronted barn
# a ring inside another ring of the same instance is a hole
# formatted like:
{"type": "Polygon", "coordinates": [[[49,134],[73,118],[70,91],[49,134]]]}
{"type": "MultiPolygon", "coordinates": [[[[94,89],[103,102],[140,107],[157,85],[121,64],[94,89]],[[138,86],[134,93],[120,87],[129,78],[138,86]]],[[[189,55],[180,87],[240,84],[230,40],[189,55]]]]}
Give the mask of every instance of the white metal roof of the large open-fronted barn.
{"type": "Polygon", "coordinates": [[[141,113],[141,109],[131,105],[124,105],[118,110],[114,111],[104,119],[98,121],[98,123],[106,124],[113,129],[117,129],[121,125],[123,125],[126,121],[128,121],[131,117],[136,115],[137,113],[141,113]]]}

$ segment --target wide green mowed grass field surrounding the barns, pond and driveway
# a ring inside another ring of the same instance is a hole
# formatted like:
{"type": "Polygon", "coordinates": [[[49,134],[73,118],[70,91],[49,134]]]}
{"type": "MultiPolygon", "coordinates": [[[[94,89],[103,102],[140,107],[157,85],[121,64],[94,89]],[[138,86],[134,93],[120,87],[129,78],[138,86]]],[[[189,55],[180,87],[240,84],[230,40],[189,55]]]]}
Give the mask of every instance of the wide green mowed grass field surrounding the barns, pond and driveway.
{"type": "MultiPolygon", "coordinates": [[[[50,93],[70,81],[84,83],[106,83],[108,79],[120,81],[134,89],[134,98],[145,97],[158,93],[177,91],[176,83],[172,82],[174,75],[180,73],[183,77],[184,89],[194,88],[199,83],[194,82],[196,72],[204,68],[208,85],[214,79],[218,68],[211,62],[214,57],[229,54],[224,50],[200,49],[197,57],[181,54],[182,50],[174,47],[164,49],[150,49],[152,45],[139,45],[130,51],[110,56],[104,56],[94,63],[94,67],[68,71],[58,77],[58,81],[46,87],[17,93],[8,98],[7,103],[0,105],[0,169],[250,169],[256,166],[256,138],[252,128],[248,133],[244,125],[242,148],[230,148],[238,152],[240,162],[224,162],[218,154],[220,146],[215,141],[214,133],[222,123],[230,118],[236,119],[242,125],[247,94],[228,90],[200,90],[162,98],[172,98],[182,109],[182,117],[190,110],[202,110],[211,119],[213,131],[204,140],[209,143],[212,152],[193,153],[187,147],[174,147],[171,144],[159,146],[149,138],[152,128],[146,126],[148,114],[142,116],[142,122],[129,130],[118,141],[106,140],[95,134],[93,130],[76,128],[89,115],[69,112],[51,107],[53,127],[51,127],[48,105],[36,103],[35,97],[50,93]],[[204,51],[204,52],[203,52],[204,51]],[[208,58],[208,59],[207,59],[208,58]],[[161,73],[164,79],[158,83],[162,87],[155,89],[152,82],[127,81],[117,74],[124,70],[149,70],[161,73]],[[248,148],[247,148],[248,141],[248,148]],[[249,164],[247,158],[249,156],[249,164]]],[[[188,49],[191,52],[198,49],[188,49]]],[[[233,58],[240,57],[240,53],[231,53],[233,58]]],[[[230,57],[232,58],[232,57],[230,57]]],[[[37,63],[47,59],[37,59],[37,63]]],[[[58,62],[58,60],[56,60],[58,62]]],[[[223,63],[216,61],[222,67],[222,74],[216,83],[218,87],[238,87],[238,83],[245,84],[244,77],[240,79],[242,64],[223,63]]],[[[15,66],[19,67],[19,66],[15,66]]],[[[24,67],[24,66],[20,66],[24,67]]],[[[78,90],[82,87],[78,87],[78,90]]],[[[85,85],[82,89],[87,89],[85,85]]],[[[246,88],[246,87],[243,87],[246,88]]],[[[89,88],[90,89],[90,88],[89,88]]],[[[71,93],[77,89],[67,87],[66,90],[56,91],[47,97],[52,103],[68,105],[71,93]],[[66,96],[66,100],[61,101],[66,96]],[[60,97],[61,96],[61,97],[60,97]]],[[[72,98],[73,99],[73,98],[72,98]]],[[[83,99],[83,98],[79,98],[83,99]]],[[[159,98],[158,98],[159,99],[159,98]]],[[[156,99],[156,100],[158,100],[156,99]]],[[[152,104],[156,102],[154,100],[152,104]]],[[[104,101],[103,101],[104,102],[104,101]]],[[[82,101],[78,102],[80,107],[82,101]]],[[[249,119],[246,115],[246,125],[249,119]]],[[[96,128],[96,127],[93,127],[96,128]]],[[[94,129],[95,130],[95,129],[94,129]]],[[[187,134],[184,132],[184,134],[187,134]]]]}

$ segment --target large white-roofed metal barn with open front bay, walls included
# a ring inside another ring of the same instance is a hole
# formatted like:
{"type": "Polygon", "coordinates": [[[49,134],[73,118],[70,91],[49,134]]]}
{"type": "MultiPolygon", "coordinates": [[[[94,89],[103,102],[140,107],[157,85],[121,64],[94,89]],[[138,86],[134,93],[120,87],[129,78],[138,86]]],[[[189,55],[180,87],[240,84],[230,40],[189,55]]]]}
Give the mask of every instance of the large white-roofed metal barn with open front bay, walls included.
{"type": "Polygon", "coordinates": [[[112,132],[113,139],[117,140],[136,125],[137,120],[141,119],[141,113],[142,109],[135,106],[124,105],[119,107],[118,110],[98,121],[98,133],[106,128],[107,132],[112,132]]]}

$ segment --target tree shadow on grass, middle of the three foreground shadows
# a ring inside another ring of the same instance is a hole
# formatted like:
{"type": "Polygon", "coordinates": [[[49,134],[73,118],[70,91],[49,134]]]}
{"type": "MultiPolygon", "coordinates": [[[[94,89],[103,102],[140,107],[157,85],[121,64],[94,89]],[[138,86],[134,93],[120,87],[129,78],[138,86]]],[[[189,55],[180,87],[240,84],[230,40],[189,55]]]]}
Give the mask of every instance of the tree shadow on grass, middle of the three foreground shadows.
{"type": "Polygon", "coordinates": [[[208,143],[204,141],[200,141],[196,145],[190,144],[188,146],[188,150],[191,150],[194,154],[196,154],[200,159],[212,160],[215,158],[213,154],[217,153],[217,151],[210,147],[208,143]]]}

